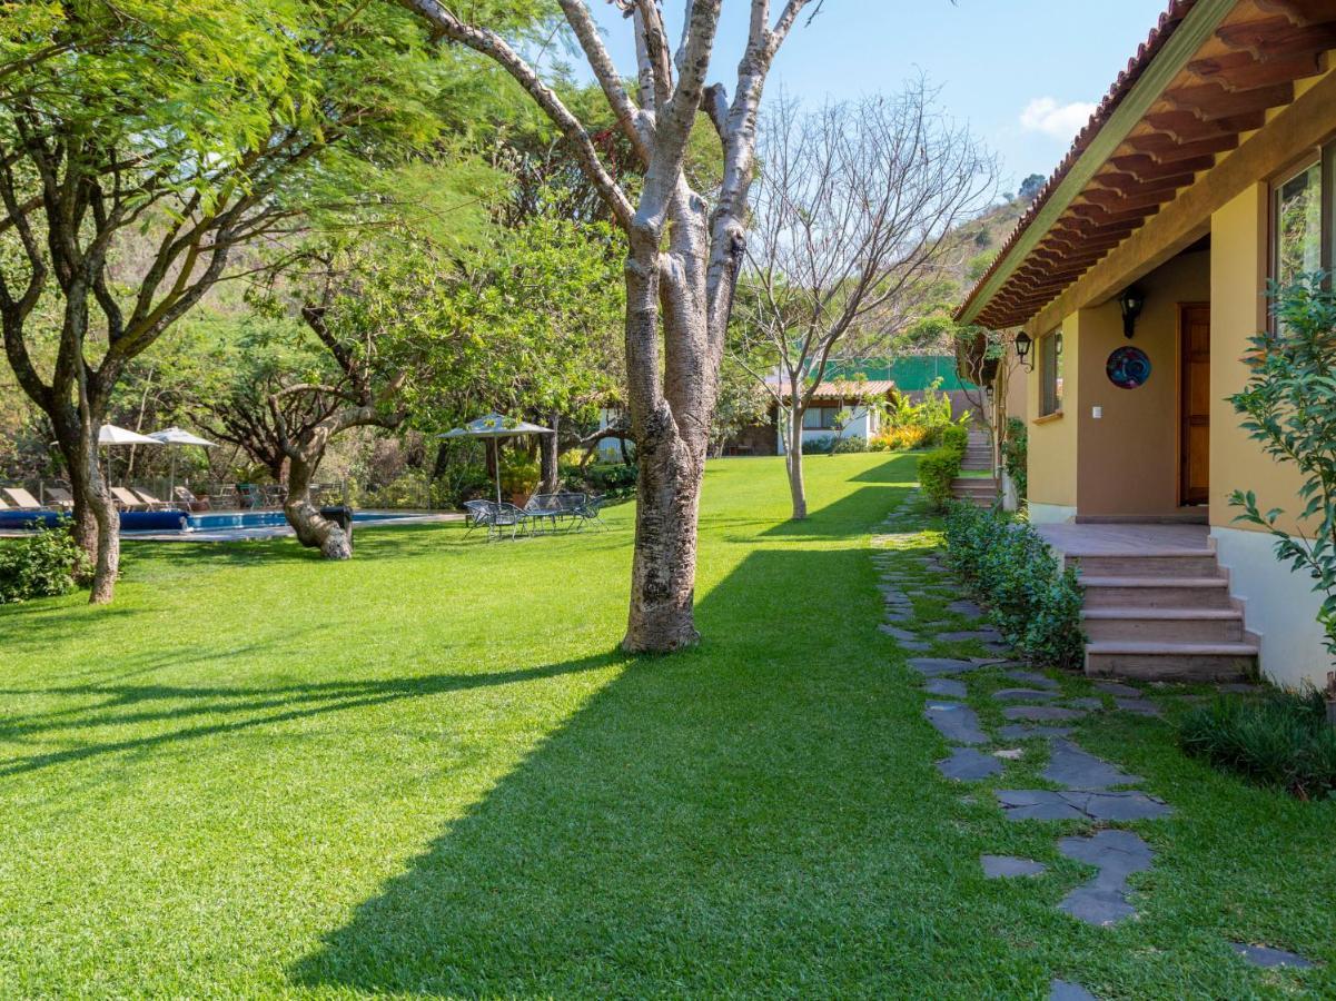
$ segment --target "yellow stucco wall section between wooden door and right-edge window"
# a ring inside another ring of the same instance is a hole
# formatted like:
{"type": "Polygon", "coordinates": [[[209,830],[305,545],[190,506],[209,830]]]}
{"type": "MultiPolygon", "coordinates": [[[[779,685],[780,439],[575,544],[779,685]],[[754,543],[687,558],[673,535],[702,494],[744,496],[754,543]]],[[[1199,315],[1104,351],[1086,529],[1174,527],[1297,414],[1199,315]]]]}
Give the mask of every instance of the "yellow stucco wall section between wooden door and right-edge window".
{"type": "Polygon", "coordinates": [[[1301,484],[1238,428],[1226,402],[1248,381],[1249,338],[1267,326],[1268,203],[1269,187],[1255,184],[1210,219],[1210,523],[1230,528],[1245,527],[1233,521],[1233,490],[1256,490],[1263,511],[1293,511],[1301,484]]]}

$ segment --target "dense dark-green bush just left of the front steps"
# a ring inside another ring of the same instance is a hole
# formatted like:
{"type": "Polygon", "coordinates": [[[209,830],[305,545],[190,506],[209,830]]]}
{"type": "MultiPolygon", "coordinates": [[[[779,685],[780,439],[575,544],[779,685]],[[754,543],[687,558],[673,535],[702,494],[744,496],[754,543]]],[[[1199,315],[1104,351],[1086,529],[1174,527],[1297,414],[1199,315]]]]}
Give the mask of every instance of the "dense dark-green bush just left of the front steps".
{"type": "Polygon", "coordinates": [[[1063,670],[1085,658],[1082,593],[1073,568],[1027,523],[973,504],[951,504],[946,555],[989,619],[1027,659],[1063,670]]]}

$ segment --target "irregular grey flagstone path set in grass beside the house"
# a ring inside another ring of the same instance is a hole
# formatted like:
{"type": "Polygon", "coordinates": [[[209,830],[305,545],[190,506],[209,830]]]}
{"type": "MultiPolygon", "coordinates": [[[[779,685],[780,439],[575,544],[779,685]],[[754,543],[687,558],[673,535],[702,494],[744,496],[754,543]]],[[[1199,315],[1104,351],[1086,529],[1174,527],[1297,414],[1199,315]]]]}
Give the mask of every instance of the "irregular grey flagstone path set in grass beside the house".
{"type": "MultiPolygon", "coordinates": [[[[1144,779],[1138,775],[1082,748],[1073,728],[1102,712],[1158,720],[1161,707],[1144,688],[1092,683],[1018,660],[987,624],[986,611],[959,597],[961,584],[933,549],[935,535],[925,531],[925,501],[911,494],[891,513],[872,537],[872,559],[886,603],[880,628],[912,655],[907,664],[926,695],[923,715],[950,748],[937,763],[943,780],[994,784],[997,806],[1007,821],[1081,823],[1089,833],[1055,834],[1055,849],[1096,874],[1074,886],[1058,909],[1098,927],[1134,918],[1129,878],[1152,870],[1156,853],[1137,830],[1122,825],[1154,825],[1174,809],[1140,789],[1144,779]],[[971,699],[989,708],[981,712],[969,704],[971,699]],[[1033,784],[1009,782],[1013,771],[1031,776],[1033,784]]],[[[975,798],[969,795],[966,802],[975,798]]],[[[1006,854],[985,854],[981,866],[990,879],[1033,879],[1049,873],[1043,862],[1006,854]]],[[[1255,966],[1312,966],[1283,949],[1244,942],[1228,946],[1255,966]]],[[[1094,994],[1055,976],[1050,997],[1094,994]]]]}

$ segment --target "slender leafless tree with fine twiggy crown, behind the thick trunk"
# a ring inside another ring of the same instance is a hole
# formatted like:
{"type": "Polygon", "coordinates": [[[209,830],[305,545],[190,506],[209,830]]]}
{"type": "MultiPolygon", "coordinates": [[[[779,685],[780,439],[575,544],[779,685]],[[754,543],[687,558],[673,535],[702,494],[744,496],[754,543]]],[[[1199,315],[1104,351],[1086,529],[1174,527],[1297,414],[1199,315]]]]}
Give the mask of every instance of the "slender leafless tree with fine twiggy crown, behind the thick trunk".
{"type": "Polygon", "coordinates": [[[807,517],[803,416],[831,353],[855,337],[883,351],[925,315],[959,223],[991,198],[993,159],[935,99],[918,80],[810,114],[779,102],[762,123],[735,354],[779,406],[794,519],[807,517]]]}

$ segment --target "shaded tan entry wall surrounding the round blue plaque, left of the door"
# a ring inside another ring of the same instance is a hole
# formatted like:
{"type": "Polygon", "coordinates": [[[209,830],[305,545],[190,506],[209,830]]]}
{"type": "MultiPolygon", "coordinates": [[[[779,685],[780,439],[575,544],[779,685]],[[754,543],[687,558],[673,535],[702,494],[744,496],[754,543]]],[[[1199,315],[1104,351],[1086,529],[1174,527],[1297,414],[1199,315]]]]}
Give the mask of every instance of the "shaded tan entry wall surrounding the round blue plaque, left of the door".
{"type": "Polygon", "coordinates": [[[1168,515],[1178,509],[1178,310],[1210,299],[1210,254],[1180,255],[1137,282],[1146,306],[1132,341],[1117,301],[1079,313],[1081,410],[1078,496],[1082,515],[1168,515]],[[1150,378],[1120,389],[1109,355],[1134,345],[1150,358],[1150,378]],[[1102,417],[1094,417],[1094,408],[1102,417]]]}

